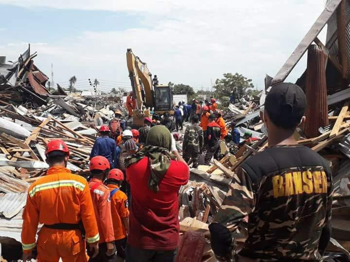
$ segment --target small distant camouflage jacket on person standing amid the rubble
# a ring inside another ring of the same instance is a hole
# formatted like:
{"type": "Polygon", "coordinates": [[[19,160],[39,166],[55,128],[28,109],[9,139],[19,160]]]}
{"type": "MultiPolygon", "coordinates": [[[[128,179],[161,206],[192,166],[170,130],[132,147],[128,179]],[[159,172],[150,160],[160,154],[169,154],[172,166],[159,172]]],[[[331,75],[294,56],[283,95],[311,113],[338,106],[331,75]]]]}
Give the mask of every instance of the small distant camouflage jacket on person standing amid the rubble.
{"type": "Polygon", "coordinates": [[[204,145],[203,130],[198,124],[193,124],[186,128],[182,151],[185,153],[199,153],[204,145]]]}

